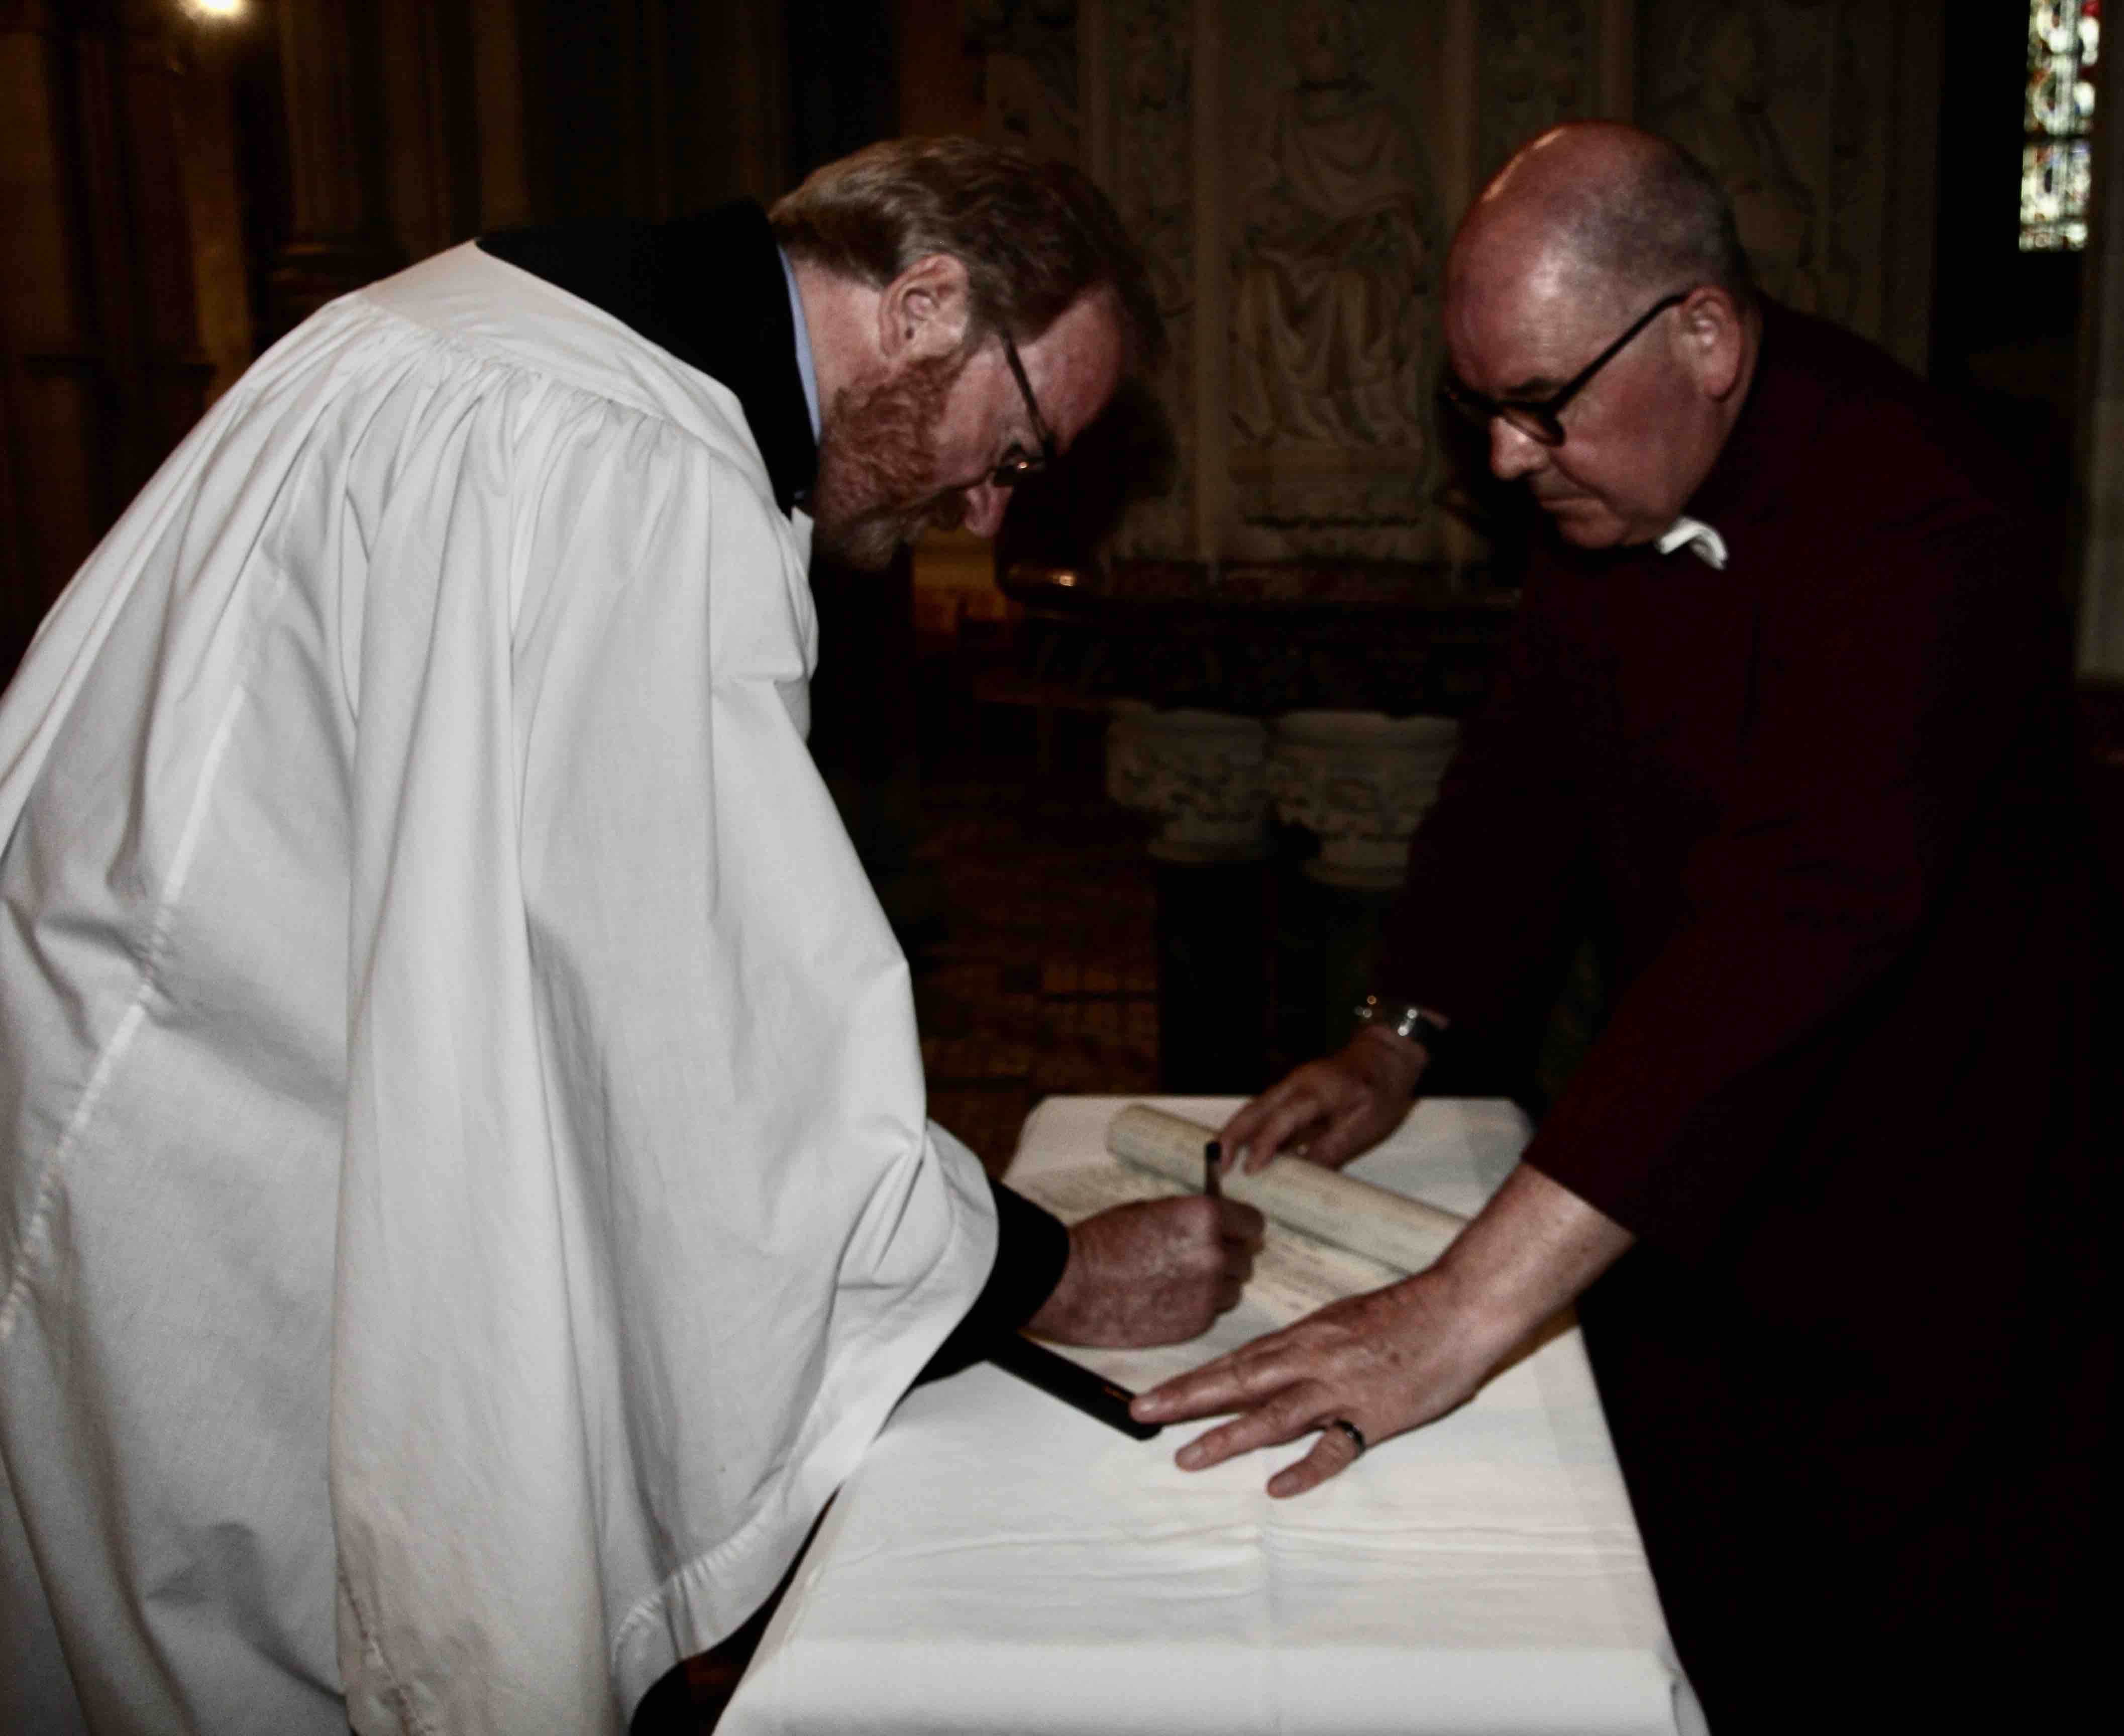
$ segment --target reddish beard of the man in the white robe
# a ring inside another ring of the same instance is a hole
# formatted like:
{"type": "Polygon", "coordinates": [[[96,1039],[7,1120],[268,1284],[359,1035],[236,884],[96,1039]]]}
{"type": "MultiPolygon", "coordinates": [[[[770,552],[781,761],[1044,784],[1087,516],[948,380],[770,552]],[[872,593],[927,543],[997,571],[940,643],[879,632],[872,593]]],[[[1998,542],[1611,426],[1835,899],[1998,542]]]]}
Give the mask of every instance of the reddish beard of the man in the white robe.
{"type": "Polygon", "coordinates": [[[926,527],[964,521],[964,491],[935,491],[937,425],[964,365],[937,355],[833,395],[811,489],[822,555],[875,572],[926,527]]]}

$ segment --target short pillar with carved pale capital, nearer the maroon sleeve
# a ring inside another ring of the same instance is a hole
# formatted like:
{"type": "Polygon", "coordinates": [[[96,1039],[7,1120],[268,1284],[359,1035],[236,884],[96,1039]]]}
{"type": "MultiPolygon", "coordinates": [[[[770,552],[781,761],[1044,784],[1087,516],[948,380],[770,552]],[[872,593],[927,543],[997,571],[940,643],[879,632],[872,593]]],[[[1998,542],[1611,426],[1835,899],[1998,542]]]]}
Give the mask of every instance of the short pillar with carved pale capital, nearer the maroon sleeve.
{"type": "Polygon", "coordinates": [[[1349,1041],[1351,1009],[1374,988],[1408,839],[1457,746],[1453,718],[1285,712],[1274,720],[1266,771],[1277,818],[1319,839],[1279,907],[1277,1048],[1287,1058],[1349,1041]]]}

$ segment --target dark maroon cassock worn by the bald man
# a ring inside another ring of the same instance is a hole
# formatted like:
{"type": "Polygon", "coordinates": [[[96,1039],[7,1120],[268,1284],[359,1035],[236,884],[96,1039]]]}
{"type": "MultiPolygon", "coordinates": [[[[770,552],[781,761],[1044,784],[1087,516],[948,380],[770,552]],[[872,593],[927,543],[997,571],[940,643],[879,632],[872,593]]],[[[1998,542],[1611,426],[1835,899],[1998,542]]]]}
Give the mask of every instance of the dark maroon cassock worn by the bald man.
{"type": "Polygon", "coordinates": [[[1769,308],[1686,508],[1727,567],[1544,540],[1389,929],[1385,986],[1478,1028],[1591,909],[1608,1018],[1525,1160],[1640,1237],[1585,1320],[1720,1736],[2092,1664],[2124,1069],[2005,470],[1769,308]]]}

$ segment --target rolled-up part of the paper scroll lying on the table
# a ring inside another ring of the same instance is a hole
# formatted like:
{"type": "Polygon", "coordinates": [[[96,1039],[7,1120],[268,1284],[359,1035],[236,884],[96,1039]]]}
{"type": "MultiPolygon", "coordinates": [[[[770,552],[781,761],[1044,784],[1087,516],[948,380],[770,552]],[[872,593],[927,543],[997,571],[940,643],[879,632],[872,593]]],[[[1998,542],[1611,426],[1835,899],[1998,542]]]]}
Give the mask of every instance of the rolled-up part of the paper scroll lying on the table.
{"type": "MultiPolygon", "coordinates": [[[[1107,1122],[1107,1150],[1121,1162],[1198,1190],[1202,1147],[1215,1137],[1215,1128],[1143,1103],[1130,1103],[1107,1122]]],[[[1446,1252],[1468,1222],[1453,1211],[1391,1194],[1353,1175],[1308,1164],[1304,1158],[1270,1158],[1268,1169],[1255,1175],[1234,1164],[1223,1177],[1223,1196],[1245,1201],[1279,1224],[1368,1254],[1404,1273],[1421,1273],[1446,1252]]]]}

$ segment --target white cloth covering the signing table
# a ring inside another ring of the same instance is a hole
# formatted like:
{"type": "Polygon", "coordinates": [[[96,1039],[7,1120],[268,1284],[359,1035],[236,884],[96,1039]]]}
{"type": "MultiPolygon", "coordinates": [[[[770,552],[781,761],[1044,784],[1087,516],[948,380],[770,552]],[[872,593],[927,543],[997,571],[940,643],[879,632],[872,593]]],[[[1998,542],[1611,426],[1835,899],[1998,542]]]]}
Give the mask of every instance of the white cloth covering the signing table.
{"type": "MultiPolygon", "coordinates": [[[[1098,1160],[1124,1101],[1049,1099],[1013,1173],[1098,1160]]],[[[1351,1173],[1472,1213],[1525,1139],[1427,1101],[1351,1173]]],[[[1198,1428],[1136,1443],[986,1364],[909,1394],[720,1730],[1701,1730],[1576,1328],[1296,1500],[1262,1485],[1302,1447],[1177,1470],[1198,1428]]]]}

